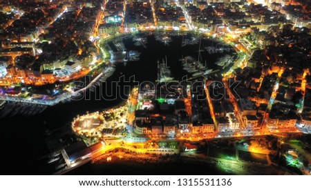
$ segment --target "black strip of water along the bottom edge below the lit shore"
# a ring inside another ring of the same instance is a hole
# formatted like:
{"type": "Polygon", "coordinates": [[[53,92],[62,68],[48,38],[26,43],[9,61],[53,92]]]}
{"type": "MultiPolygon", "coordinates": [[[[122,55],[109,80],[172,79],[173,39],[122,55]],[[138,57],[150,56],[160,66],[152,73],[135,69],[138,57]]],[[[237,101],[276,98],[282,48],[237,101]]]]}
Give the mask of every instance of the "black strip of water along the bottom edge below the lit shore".
{"type": "Polygon", "coordinates": [[[227,175],[214,164],[185,159],[171,163],[86,163],[68,175],[90,175],[90,172],[92,175],[227,175]]]}

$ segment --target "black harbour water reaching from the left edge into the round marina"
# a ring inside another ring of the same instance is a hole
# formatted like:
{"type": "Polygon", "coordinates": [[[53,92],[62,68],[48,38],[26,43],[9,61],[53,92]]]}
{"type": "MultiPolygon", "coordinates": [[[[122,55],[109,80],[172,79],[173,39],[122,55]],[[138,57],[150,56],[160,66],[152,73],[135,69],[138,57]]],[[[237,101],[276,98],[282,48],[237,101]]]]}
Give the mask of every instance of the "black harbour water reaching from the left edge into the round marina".
{"type": "MultiPolygon", "coordinates": [[[[179,59],[183,56],[198,56],[198,44],[194,46],[181,47],[182,37],[172,37],[173,42],[170,46],[164,46],[160,41],[156,41],[152,36],[149,36],[147,48],[142,46],[134,46],[131,39],[124,39],[125,46],[128,50],[138,50],[141,52],[140,61],[119,63],[116,66],[114,74],[107,79],[107,86],[102,88],[103,91],[111,92],[112,81],[119,81],[122,75],[125,79],[135,75],[135,81],[155,81],[157,78],[157,60],[162,62],[165,55],[167,55],[168,66],[171,66],[171,72],[175,79],[181,79],[185,74],[180,65],[179,59]],[[107,88],[107,90],[106,90],[107,88]]],[[[209,40],[202,40],[202,48],[210,45],[212,42],[209,40]]],[[[213,42],[214,45],[216,42],[213,42]]],[[[214,68],[214,62],[223,54],[208,54],[202,52],[202,62],[207,59],[209,68],[214,68]]],[[[127,83],[120,83],[124,86],[127,83]]],[[[129,93],[130,88],[124,88],[119,93],[129,93]]],[[[39,167],[37,164],[38,157],[46,155],[48,148],[44,141],[43,134],[49,129],[60,128],[70,123],[76,115],[83,115],[86,111],[94,112],[109,108],[121,103],[121,98],[113,100],[96,100],[100,97],[100,90],[97,88],[96,92],[87,92],[86,97],[88,100],[70,101],[67,103],[59,103],[56,106],[48,107],[41,115],[32,117],[5,117],[0,119],[1,128],[1,168],[0,174],[2,175],[44,175],[46,172],[44,168],[39,167]]],[[[124,97],[126,99],[126,97],[124,97]]],[[[169,165],[172,166],[172,165],[169,165]]],[[[174,167],[174,166],[172,166],[174,167]]],[[[178,166],[176,166],[178,167],[178,166]]],[[[200,167],[200,166],[198,166],[200,167]]],[[[138,172],[141,166],[138,166],[138,172]]],[[[189,166],[191,168],[191,166],[189,166]]],[[[80,168],[79,168],[80,169],[80,168]]],[[[113,168],[111,168],[113,169],[113,168]]],[[[142,168],[145,170],[146,168],[142,168]]],[[[97,167],[86,166],[82,167],[79,174],[91,175],[93,172],[97,173],[97,167]]],[[[118,170],[122,172],[122,166],[118,166],[118,170]]],[[[138,172],[134,172],[138,174],[138,172]]],[[[211,171],[213,172],[213,171],[211,171]]],[[[166,172],[168,174],[169,172],[166,172]]],[[[190,173],[190,172],[189,172],[190,173]]],[[[117,174],[117,172],[115,172],[117,174]]],[[[194,172],[195,174],[195,172],[194,172]]]]}

